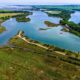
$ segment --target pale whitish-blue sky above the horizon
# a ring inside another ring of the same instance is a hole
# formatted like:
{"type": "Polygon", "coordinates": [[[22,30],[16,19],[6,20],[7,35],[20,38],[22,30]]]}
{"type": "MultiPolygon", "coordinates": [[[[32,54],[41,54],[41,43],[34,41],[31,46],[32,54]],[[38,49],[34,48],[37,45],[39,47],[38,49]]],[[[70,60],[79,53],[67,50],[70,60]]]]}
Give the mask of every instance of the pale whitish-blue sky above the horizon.
{"type": "Polygon", "coordinates": [[[22,5],[80,4],[80,0],[0,0],[0,5],[2,4],[22,4],[22,5]]]}

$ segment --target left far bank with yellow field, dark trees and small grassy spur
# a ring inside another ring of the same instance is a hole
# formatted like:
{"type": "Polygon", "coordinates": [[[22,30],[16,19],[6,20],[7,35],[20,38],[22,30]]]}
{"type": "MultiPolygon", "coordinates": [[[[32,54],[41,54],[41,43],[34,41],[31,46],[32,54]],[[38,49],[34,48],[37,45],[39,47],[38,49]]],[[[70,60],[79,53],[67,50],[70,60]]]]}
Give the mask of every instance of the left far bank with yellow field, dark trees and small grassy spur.
{"type": "Polygon", "coordinates": [[[16,17],[17,21],[28,22],[28,21],[30,21],[30,19],[26,18],[26,16],[28,16],[29,14],[31,14],[31,13],[24,12],[24,11],[22,11],[22,12],[20,12],[20,11],[0,11],[0,33],[6,31],[6,28],[1,25],[6,20],[16,17]]]}

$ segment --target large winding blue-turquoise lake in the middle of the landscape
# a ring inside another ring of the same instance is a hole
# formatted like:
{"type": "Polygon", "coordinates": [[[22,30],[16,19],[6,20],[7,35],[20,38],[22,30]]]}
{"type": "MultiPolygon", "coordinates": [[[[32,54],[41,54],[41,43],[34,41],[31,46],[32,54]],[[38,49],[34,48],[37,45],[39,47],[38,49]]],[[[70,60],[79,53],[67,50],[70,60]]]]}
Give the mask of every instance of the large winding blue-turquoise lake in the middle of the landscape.
{"type": "Polygon", "coordinates": [[[31,21],[28,23],[17,22],[14,18],[4,22],[2,25],[6,27],[7,31],[0,34],[0,45],[6,44],[19,30],[23,30],[25,36],[33,40],[80,52],[80,38],[71,33],[62,32],[62,26],[52,27],[48,30],[40,30],[40,28],[47,28],[44,24],[45,20],[59,23],[60,18],[48,17],[46,13],[40,11],[33,12],[33,15],[29,17],[31,21]]]}

